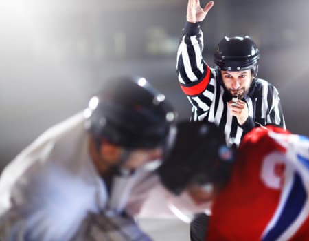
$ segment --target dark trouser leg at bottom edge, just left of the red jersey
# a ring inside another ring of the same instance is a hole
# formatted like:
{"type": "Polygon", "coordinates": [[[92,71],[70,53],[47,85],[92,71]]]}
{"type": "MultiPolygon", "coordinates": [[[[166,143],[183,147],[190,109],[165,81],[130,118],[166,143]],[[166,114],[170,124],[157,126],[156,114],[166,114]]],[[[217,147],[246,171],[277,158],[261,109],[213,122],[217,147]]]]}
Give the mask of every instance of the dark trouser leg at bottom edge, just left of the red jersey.
{"type": "Polygon", "coordinates": [[[208,224],[209,216],[205,213],[197,214],[190,223],[190,240],[205,241],[208,224]]]}

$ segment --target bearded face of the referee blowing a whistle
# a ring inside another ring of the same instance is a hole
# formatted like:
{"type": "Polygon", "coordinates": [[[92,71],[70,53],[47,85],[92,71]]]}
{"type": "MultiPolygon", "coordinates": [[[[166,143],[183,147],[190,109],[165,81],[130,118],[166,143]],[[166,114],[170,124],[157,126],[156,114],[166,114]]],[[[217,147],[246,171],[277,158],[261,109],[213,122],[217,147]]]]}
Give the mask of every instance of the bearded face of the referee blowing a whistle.
{"type": "Polygon", "coordinates": [[[248,93],[251,82],[252,73],[251,70],[242,71],[225,71],[221,70],[222,81],[226,89],[232,96],[239,95],[238,98],[244,98],[248,93]]]}

